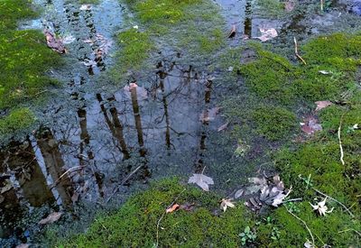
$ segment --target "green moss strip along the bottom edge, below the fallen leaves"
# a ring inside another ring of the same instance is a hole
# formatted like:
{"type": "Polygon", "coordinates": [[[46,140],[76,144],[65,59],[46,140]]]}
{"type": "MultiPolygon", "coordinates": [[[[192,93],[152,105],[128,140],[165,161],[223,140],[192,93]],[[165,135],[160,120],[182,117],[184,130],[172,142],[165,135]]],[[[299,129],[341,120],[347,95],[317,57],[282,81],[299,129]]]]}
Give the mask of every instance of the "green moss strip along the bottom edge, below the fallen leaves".
{"type": "Polygon", "coordinates": [[[329,206],[336,208],[328,216],[317,216],[307,201],[279,207],[269,216],[256,216],[243,202],[236,202],[236,208],[222,212],[220,198],[214,193],[182,186],[176,179],[165,179],[131,197],[116,213],[97,217],[86,234],[54,242],[58,247],[153,247],[157,243],[157,223],[160,223],[160,247],[302,246],[310,240],[310,234],[289,209],[307,222],[319,246],[359,244],[352,231],[338,233],[347,228],[360,228],[359,223],[329,202],[329,206]],[[180,206],[194,205],[188,210],[164,214],[174,200],[180,206]]]}

